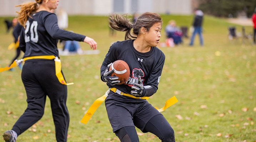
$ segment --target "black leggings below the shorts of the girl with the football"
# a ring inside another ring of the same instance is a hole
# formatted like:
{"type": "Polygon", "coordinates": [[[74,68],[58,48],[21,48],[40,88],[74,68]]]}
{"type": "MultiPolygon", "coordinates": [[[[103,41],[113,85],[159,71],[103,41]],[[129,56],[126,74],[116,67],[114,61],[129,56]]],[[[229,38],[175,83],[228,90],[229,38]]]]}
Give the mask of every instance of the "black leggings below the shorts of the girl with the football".
{"type": "MultiPolygon", "coordinates": [[[[156,135],[162,142],[175,142],[174,130],[163,115],[156,115],[147,122],[144,131],[156,135]]],[[[117,130],[116,136],[121,142],[139,142],[134,126],[126,126],[117,130]]]]}

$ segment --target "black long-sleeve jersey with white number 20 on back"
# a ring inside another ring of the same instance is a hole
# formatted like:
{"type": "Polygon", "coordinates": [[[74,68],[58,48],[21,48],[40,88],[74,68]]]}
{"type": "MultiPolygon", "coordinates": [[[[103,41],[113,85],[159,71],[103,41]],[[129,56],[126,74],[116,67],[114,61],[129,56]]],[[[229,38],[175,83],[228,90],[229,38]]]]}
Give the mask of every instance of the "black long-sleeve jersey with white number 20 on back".
{"type": "Polygon", "coordinates": [[[85,36],[60,29],[55,13],[39,11],[28,18],[20,34],[19,48],[24,57],[54,55],[59,56],[58,39],[84,41],[85,36]]]}

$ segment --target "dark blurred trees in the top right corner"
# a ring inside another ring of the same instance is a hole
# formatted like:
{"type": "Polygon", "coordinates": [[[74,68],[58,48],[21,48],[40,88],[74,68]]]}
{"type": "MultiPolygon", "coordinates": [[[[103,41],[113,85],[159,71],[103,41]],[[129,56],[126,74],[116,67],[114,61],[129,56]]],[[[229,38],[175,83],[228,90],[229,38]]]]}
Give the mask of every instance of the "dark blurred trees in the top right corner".
{"type": "Polygon", "coordinates": [[[200,0],[199,9],[217,17],[237,17],[244,13],[251,17],[256,7],[256,0],[200,0]]]}

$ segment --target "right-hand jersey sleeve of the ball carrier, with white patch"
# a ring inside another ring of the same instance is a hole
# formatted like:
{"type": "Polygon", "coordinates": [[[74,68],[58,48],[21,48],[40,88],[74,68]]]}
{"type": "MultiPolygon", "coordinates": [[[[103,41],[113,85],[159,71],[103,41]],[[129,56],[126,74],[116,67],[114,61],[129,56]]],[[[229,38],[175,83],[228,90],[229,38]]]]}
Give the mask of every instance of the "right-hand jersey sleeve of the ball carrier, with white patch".
{"type": "Polygon", "coordinates": [[[150,97],[154,93],[156,93],[158,89],[158,84],[160,81],[160,77],[162,74],[162,70],[165,63],[165,55],[164,53],[161,54],[159,60],[156,62],[156,65],[152,72],[150,73],[150,76],[148,78],[147,84],[144,84],[144,88],[146,89],[146,94],[144,96],[150,97]]]}

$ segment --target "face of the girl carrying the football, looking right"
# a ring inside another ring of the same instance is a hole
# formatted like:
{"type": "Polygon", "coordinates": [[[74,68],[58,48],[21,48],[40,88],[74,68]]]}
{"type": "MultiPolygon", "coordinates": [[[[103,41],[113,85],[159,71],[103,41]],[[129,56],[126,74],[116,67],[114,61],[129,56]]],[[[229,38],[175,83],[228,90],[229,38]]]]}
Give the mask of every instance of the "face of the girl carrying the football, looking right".
{"type": "Polygon", "coordinates": [[[155,47],[159,44],[161,37],[162,24],[160,22],[155,23],[145,35],[145,40],[149,43],[149,46],[155,47]]]}

